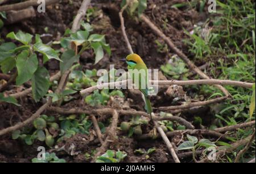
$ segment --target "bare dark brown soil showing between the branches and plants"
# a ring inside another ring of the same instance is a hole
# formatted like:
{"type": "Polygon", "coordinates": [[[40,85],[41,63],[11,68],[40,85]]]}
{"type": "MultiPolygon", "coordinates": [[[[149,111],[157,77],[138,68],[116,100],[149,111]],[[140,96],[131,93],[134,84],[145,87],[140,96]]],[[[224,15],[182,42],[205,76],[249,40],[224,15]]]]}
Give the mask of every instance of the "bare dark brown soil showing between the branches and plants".
{"type": "MultiPolygon", "coordinates": [[[[145,14],[150,17],[159,28],[163,28],[163,32],[170,37],[177,48],[183,50],[184,53],[188,53],[182,40],[187,36],[183,32],[183,28],[189,30],[193,28],[193,25],[197,22],[204,21],[207,16],[199,15],[199,12],[195,10],[183,10],[183,9],[171,9],[170,6],[174,3],[181,3],[185,0],[159,0],[159,1],[148,1],[148,7],[145,14]],[[163,27],[164,21],[166,27],[163,27]]],[[[5,36],[10,31],[17,32],[22,29],[24,32],[31,34],[39,33],[43,34],[44,28],[48,27],[48,33],[52,36],[43,38],[43,42],[47,43],[51,40],[58,40],[65,32],[65,28],[70,28],[72,25],[73,16],[76,15],[77,10],[80,7],[81,1],[72,1],[73,4],[69,5],[69,0],[63,0],[60,4],[52,5],[47,7],[45,14],[36,14],[36,18],[23,21],[22,23],[12,24],[5,26],[1,33],[1,36],[5,36]]],[[[94,27],[95,33],[100,33],[106,36],[107,43],[110,44],[112,49],[112,56],[109,57],[105,54],[105,57],[97,64],[93,65],[93,54],[92,52],[85,52],[82,54],[80,61],[84,66],[84,69],[100,69],[109,68],[110,63],[115,64],[115,68],[125,68],[124,63],[120,63],[117,60],[119,58],[126,57],[129,54],[125,41],[123,40],[118,12],[120,10],[119,4],[121,1],[92,1],[92,6],[97,9],[97,15],[90,17],[90,23],[94,27]]],[[[160,67],[168,61],[172,56],[172,52],[159,53],[156,51],[157,46],[155,40],[159,39],[154,33],[151,32],[150,28],[146,26],[139,19],[131,19],[125,14],[125,26],[127,35],[131,42],[131,45],[136,53],[143,57],[144,61],[147,62],[147,66],[150,68],[160,67]]],[[[188,54],[189,56],[189,54],[188,54]]],[[[200,66],[200,62],[196,62],[196,65],[200,66]]],[[[59,64],[55,60],[51,60],[47,63],[47,68],[51,73],[55,73],[59,70],[59,64]]],[[[125,95],[133,99],[134,108],[141,100],[138,101],[136,97],[129,92],[125,92],[125,95]],[[138,102],[138,103],[136,103],[138,102]]],[[[159,103],[161,105],[168,105],[168,101],[154,98],[152,103],[159,103]]],[[[15,125],[20,121],[26,120],[31,116],[42,103],[35,103],[31,96],[20,99],[22,107],[16,107],[11,104],[0,105],[0,129],[7,128],[11,125],[15,125]]],[[[143,105],[141,103],[141,105],[143,105]]],[[[72,101],[65,105],[65,107],[79,107],[83,106],[82,98],[79,97],[77,100],[72,101]]],[[[143,108],[136,108],[143,110],[143,108]]],[[[206,108],[205,111],[201,111],[205,114],[209,111],[206,108]]],[[[51,112],[44,112],[44,114],[53,114],[51,112]]],[[[183,117],[186,117],[184,114],[183,117]]],[[[119,122],[125,120],[123,117],[119,122]]],[[[65,145],[64,151],[56,152],[59,158],[64,158],[67,162],[90,162],[84,156],[85,152],[90,152],[99,146],[98,143],[90,144],[93,138],[96,136],[89,137],[89,135],[76,134],[72,138],[66,139],[64,142],[58,144],[59,147],[65,145]],[[73,151],[77,152],[71,154],[69,148],[71,144],[75,145],[73,151]]],[[[179,139],[180,137],[176,137],[179,139]]],[[[42,142],[35,142],[34,145],[28,146],[24,142],[11,139],[11,134],[7,134],[0,137],[0,162],[31,162],[32,158],[35,158],[38,152],[36,148],[39,145],[43,145],[42,142]]],[[[117,142],[113,142],[110,149],[125,150],[127,152],[127,158],[124,162],[172,162],[171,155],[168,153],[166,146],[162,140],[159,141],[136,141],[134,138],[124,138],[119,136],[117,142]],[[150,159],[146,159],[145,155],[137,155],[134,153],[135,149],[138,148],[151,148],[155,147],[156,151],[151,155],[150,159]]]]}

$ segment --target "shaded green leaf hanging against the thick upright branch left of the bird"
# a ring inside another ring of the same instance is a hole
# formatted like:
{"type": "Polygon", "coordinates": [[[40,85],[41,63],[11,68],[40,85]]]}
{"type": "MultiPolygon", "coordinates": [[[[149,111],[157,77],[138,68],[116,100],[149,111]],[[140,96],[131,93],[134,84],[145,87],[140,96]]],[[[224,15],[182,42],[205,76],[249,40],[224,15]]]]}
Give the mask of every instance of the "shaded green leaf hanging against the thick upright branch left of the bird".
{"type": "Polygon", "coordinates": [[[68,49],[67,51],[65,51],[62,56],[61,56],[61,61],[60,62],[60,71],[61,73],[64,73],[65,70],[68,70],[73,63],[79,61],[79,55],[76,55],[76,53],[71,50],[68,49]]]}

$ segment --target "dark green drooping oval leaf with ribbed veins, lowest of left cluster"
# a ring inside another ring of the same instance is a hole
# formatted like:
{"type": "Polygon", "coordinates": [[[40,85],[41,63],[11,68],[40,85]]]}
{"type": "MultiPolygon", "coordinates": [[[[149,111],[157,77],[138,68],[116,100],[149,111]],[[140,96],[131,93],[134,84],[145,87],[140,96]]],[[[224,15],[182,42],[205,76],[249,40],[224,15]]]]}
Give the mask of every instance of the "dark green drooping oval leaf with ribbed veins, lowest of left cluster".
{"type": "Polygon", "coordinates": [[[39,101],[49,89],[49,73],[45,67],[39,67],[32,76],[32,94],[39,101]]]}

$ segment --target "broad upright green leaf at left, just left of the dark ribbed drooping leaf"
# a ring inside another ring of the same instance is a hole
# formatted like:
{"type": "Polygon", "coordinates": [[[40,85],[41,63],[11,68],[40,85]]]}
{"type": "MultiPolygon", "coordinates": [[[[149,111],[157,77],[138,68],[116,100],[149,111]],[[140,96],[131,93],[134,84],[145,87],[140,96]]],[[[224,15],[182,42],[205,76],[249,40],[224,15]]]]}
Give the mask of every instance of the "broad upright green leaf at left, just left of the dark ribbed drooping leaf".
{"type": "Polygon", "coordinates": [[[16,67],[18,70],[18,77],[16,77],[16,84],[20,85],[24,82],[27,82],[32,78],[32,75],[35,73],[36,69],[38,69],[38,58],[36,54],[32,54],[28,56],[28,50],[23,50],[17,56],[16,67]]]}

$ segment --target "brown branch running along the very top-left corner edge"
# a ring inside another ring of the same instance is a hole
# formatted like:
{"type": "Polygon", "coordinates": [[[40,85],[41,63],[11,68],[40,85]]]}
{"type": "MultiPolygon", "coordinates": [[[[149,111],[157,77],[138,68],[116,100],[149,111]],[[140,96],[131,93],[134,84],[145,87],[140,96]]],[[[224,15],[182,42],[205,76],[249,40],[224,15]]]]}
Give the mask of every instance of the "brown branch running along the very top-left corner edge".
{"type": "MultiPolygon", "coordinates": [[[[45,0],[46,5],[52,5],[53,3],[57,3],[60,0],[45,0]]],[[[22,10],[26,9],[27,7],[30,6],[38,6],[38,0],[31,0],[31,1],[26,1],[26,2],[20,2],[20,3],[14,3],[11,5],[5,5],[5,6],[0,6],[0,11],[10,11],[10,10],[22,10]]]]}

